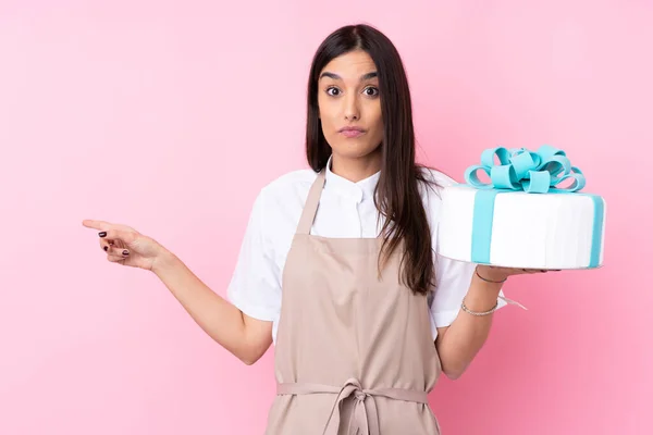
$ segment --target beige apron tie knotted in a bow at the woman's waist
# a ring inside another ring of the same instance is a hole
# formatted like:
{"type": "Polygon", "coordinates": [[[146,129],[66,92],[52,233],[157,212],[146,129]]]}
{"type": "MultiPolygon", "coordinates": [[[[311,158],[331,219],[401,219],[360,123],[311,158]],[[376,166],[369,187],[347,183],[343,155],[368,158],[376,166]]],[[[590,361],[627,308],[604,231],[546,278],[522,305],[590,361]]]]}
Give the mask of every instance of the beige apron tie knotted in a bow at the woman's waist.
{"type": "MultiPolygon", "coordinates": [[[[428,393],[415,389],[403,388],[379,388],[364,389],[357,378],[348,378],[341,387],[331,385],[307,384],[307,383],[284,383],[278,385],[279,395],[307,395],[307,394],[335,394],[336,398],[331,408],[329,419],[324,424],[322,435],[328,434],[329,423],[337,408],[348,397],[354,396],[354,410],[349,417],[347,435],[381,435],[379,427],[379,412],[374,396],[382,396],[389,399],[414,401],[418,403],[428,403],[428,393]]],[[[333,435],[337,434],[337,425],[334,428],[333,435]]],[[[331,434],[330,434],[331,435],[331,434]]]]}

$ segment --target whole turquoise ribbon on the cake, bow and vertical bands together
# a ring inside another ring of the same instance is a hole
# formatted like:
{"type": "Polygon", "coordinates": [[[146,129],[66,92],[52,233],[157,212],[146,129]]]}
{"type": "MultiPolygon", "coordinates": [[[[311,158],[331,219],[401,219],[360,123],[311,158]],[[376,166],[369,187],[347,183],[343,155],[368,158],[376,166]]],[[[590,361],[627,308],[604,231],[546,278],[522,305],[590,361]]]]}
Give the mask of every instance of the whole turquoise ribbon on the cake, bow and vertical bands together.
{"type": "Polygon", "coordinates": [[[574,194],[591,197],[594,204],[592,227],[592,246],[588,268],[596,268],[600,263],[603,233],[604,200],[597,195],[576,194],[586,185],[580,170],[571,166],[565,152],[544,145],[537,152],[525,148],[491,148],[481,154],[481,164],[469,166],[465,171],[467,183],[479,189],[475,197],[471,261],[490,264],[490,247],[492,244],[492,226],[494,220],[494,201],[496,196],[507,191],[525,191],[529,194],[574,194]],[[494,157],[500,164],[494,163],[494,157]],[[478,171],[490,176],[490,183],[482,183],[478,171]],[[557,188],[562,182],[572,178],[567,188],[557,188]]]}

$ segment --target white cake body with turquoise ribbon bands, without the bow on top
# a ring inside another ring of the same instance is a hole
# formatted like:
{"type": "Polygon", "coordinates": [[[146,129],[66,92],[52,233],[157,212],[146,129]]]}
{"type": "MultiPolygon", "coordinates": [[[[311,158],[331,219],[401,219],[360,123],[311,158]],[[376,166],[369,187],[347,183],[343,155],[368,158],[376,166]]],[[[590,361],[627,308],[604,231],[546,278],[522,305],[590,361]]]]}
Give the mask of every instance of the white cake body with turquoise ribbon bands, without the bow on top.
{"type": "MultiPolygon", "coordinates": [[[[559,150],[553,150],[559,156],[559,150]]],[[[506,156],[503,157],[504,163],[508,163],[506,156]]],[[[436,247],[441,256],[480,264],[543,270],[593,269],[603,264],[605,201],[602,197],[555,188],[545,192],[495,188],[481,184],[473,175],[479,167],[470,166],[466,173],[471,185],[442,190],[436,247]]]]}

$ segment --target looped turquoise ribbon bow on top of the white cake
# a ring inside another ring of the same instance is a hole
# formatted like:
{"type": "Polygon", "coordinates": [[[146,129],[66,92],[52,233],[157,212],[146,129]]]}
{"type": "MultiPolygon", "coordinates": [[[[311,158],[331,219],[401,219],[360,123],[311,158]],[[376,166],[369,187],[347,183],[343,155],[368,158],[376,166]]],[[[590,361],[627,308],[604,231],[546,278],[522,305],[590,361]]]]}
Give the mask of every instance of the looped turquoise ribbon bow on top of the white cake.
{"type": "Polygon", "coordinates": [[[529,194],[574,192],[584,187],[582,172],[571,166],[565,151],[549,145],[538,151],[526,148],[490,148],[481,153],[481,164],[465,171],[465,181],[479,189],[523,190],[529,194]],[[494,157],[500,164],[495,164],[494,157]],[[483,171],[490,183],[479,179],[477,172],[483,171]],[[564,181],[572,178],[569,187],[557,188],[564,181]]]}

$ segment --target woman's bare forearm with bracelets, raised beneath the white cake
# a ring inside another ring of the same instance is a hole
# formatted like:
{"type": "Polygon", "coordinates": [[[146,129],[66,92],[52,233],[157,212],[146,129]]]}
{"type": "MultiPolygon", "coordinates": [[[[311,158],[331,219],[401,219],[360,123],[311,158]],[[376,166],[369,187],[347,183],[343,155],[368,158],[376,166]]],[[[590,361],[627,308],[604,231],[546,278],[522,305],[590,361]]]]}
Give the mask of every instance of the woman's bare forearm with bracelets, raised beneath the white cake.
{"type": "MultiPolygon", "coordinates": [[[[489,311],[495,306],[500,290],[501,284],[488,283],[475,273],[464,299],[465,306],[475,312],[489,311]]],[[[488,339],[493,315],[472,315],[460,309],[438,344],[442,368],[448,377],[459,377],[471,363],[488,339]]]]}

